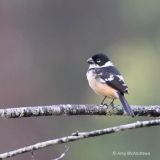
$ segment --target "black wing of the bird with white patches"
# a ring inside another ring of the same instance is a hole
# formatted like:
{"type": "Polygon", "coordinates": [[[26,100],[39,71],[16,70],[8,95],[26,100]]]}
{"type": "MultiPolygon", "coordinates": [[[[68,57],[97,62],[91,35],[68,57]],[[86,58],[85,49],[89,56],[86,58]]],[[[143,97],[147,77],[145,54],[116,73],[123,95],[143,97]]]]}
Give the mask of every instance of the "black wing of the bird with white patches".
{"type": "Polygon", "coordinates": [[[124,78],[114,66],[98,68],[96,69],[96,73],[98,77],[107,85],[121,93],[128,93],[128,87],[124,81],[124,78]]]}

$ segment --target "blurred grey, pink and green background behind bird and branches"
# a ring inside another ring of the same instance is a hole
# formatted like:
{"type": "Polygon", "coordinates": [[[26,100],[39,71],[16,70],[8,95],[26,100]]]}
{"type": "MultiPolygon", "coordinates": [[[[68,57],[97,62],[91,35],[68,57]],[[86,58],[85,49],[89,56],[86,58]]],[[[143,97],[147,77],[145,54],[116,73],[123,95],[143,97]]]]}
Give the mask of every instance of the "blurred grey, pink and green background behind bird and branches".
{"type": "MultiPolygon", "coordinates": [[[[1,0],[0,106],[97,103],[86,80],[86,59],[104,52],[129,86],[130,104],[160,104],[159,0],[1,0]]],[[[119,102],[118,102],[119,103],[119,102]]],[[[120,116],[39,117],[1,120],[0,151],[146,120],[120,116]]],[[[70,143],[66,160],[159,159],[159,127],[70,143]],[[150,152],[114,156],[113,152],[150,152]]],[[[52,159],[64,145],[35,152],[52,159]]],[[[12,159],[31,159],[26,153],[12,159]]]]}

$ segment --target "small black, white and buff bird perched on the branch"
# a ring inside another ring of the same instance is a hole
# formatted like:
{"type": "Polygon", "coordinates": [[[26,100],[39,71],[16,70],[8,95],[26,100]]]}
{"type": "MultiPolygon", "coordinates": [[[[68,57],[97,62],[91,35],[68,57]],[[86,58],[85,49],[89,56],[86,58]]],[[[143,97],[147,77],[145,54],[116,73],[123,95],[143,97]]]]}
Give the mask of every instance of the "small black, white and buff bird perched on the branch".
{"type": "Polygon", "coordinates": [[[104,96],[101,105],[104,105],[106,98],[112,99],[110,103],[112,106],[114,106],[114,100],[119,99],[126,113],[134,117],[134,112],[124,97],[124,94],[128,94],[128,86],[108,56],[104,53],[97,53],[87,62],[89,68],[86,76],[89,86],[96,94],[104,96]]]}

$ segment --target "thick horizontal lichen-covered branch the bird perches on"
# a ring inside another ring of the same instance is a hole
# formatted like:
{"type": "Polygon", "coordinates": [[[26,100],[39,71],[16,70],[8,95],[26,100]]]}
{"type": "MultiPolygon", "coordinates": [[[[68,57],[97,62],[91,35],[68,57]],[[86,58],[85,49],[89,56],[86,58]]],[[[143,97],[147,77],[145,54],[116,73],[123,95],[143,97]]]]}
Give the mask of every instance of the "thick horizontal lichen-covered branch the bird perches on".
{"type": "MultiPolygon", "coordinates": [[[[160,116],[158,106],[131,106],[136,116],[160,116]]],[[[37,116],[60,116],[60,115],[127,115],[121,106],[102,106],[95,104],[58,104],[50,106],[33,106],[0,109],[1,118],[21,118],[37,116]]]]}

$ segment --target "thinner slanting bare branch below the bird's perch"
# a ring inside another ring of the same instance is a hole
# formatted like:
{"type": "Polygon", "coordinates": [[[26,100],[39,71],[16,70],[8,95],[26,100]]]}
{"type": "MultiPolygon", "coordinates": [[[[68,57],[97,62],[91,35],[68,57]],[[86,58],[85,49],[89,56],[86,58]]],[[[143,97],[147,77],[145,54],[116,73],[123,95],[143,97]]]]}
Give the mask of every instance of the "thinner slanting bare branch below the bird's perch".
{"type": "Polygon", "coordinates": [[[105,129],[100,129],[100,130],[94,130],[90,132],[76,132],[76,133],[72,133],[71,136],[57,138],[57,139],[53,139],[53,140],[49,140],[45,142],[40,142],[40,143],[26,146],[26,147],[23,147],[23,148],[14,150],[14,151],[2,153],[0,154],[0,159],[13,157],[18,154],[25,153],[25,152],[32,152],[34,150],[38,150],[38,149],[48,147],[48,146],[53,146],[56,144],[69,143],[69,142],[77,141],[80,139],[116,133],[116,132],[125,131],[128,129],[151,127],[151,126],[157,126],[157,125],[160,125],[160,119],[154,119],[154,120],[148,120],[148,121],[137,121],[135,123],[125,124],[125,125],[120,125],[120,126],[105,128],[105,129]]]}

